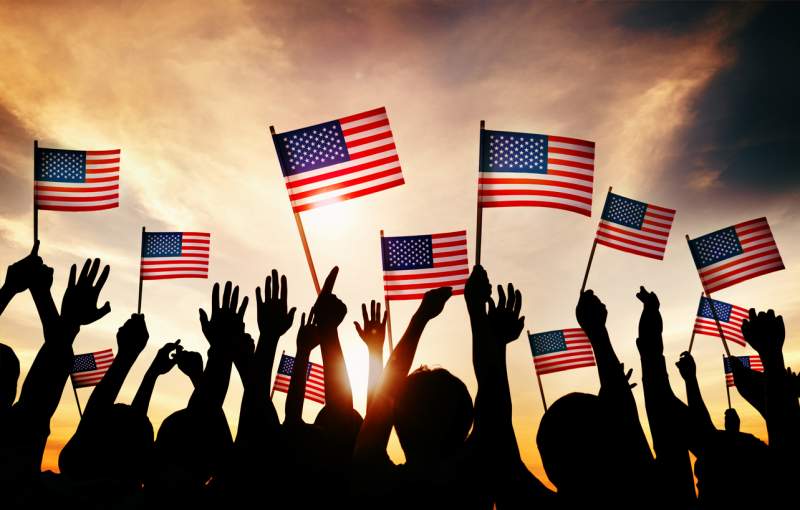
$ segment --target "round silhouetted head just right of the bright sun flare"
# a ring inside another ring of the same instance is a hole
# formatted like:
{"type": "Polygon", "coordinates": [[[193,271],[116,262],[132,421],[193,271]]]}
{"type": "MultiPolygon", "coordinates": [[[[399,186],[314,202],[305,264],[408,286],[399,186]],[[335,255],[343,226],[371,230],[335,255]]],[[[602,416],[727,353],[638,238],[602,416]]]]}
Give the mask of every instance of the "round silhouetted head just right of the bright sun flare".
{"type": "Polygon", "coordinates": [[[395,400],[397,437],[409,463],[452,454],[472,426],[472,398],[461,379],[443,368],[410,374],[395,400]]]}

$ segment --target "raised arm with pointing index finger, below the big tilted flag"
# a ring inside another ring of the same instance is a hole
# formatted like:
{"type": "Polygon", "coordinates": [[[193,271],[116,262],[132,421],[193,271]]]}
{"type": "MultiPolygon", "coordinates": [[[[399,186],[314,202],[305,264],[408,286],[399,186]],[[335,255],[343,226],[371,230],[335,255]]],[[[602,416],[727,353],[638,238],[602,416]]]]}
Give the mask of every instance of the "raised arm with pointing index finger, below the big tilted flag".
{"type": "Polygon", "coordinates": [[[325,367],[325,407],[337,413],[353,409],[353,392],[342,346],[339,343],[339,324],[347,315],[347,306],[333,293],[339,268],[334,267],[314,303],[314,315],[319,325],[322,365],[325,367]]]}

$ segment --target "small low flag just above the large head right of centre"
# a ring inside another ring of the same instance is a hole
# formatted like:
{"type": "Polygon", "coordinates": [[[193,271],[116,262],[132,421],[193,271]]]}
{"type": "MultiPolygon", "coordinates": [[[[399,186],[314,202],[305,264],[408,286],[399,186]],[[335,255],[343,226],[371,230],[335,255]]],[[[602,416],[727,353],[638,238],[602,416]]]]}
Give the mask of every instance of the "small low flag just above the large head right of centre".
{"type": "Polygon", "coordinates": [[[539,375],[595,365],[589,337],[581,328],[528,334],[539,375]]]}

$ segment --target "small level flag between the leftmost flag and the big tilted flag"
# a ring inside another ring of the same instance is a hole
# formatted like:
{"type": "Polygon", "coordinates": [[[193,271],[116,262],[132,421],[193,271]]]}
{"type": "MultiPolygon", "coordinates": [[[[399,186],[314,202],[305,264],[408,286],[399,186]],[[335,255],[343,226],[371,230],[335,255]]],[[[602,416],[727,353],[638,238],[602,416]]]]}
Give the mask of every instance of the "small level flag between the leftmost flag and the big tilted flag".
{"type": "Polygon", "coordinates": [[[144,232],[142,279],[208,278],[210,250],[207,232],[144,232]]]}

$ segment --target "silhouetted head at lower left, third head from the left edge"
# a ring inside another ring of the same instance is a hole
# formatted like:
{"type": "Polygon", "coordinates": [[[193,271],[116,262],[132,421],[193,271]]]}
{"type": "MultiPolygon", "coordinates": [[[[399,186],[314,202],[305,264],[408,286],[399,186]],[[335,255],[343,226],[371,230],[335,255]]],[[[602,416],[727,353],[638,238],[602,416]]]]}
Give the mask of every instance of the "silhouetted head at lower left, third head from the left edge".
{"type": "Polygon", "coordinates": [[[197,413],[182,409],[158,429],[150,488],[200,488],[219,472],[233,446],[222,410],[197,413]]]}

